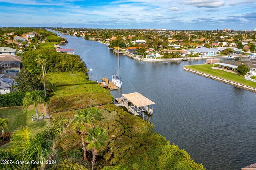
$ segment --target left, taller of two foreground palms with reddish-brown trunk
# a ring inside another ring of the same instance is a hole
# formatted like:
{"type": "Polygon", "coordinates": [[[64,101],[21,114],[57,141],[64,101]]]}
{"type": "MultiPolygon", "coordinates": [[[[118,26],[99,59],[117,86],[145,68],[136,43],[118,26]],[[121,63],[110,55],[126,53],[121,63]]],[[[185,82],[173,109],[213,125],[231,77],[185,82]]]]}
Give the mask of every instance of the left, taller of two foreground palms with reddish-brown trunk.
{"type": "Polygon", "coordinates": [[[73,129],[81,133],[82,146],[84,150],[84,161],[87,161],[84,135],[87,134],[89,129],[92,129],[94,124],[100,119],[101,113],[100,110],[96,107],[91,107],[89,110],[78,110],[72,119],[72,122],[74,122],[73,129]]]}

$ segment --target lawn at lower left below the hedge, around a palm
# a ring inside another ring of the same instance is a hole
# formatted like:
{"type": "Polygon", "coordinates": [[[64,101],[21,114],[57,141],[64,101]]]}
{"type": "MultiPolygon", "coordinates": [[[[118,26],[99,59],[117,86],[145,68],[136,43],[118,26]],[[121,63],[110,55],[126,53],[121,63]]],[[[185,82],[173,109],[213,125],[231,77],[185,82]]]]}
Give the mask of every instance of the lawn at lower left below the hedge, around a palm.
{"type": "MultiPolygon", "coordinates": [[[[20,126],[28,126],[32,135],[35,135],[39,131],[46,129],[46,126],[50,126],[50,119],[44,119],[40,122],[32,121],[32,115],[36,115],[34,109],[28,109],[28,111],[23,112],[22,106],[0,108],[0,118],[7,118],[9,121],[8,128],[4,129],[5,132],[12,133],[20,126]]],[[[7,143],[1,148],[6,149],[9,145],[7,143]]]]}

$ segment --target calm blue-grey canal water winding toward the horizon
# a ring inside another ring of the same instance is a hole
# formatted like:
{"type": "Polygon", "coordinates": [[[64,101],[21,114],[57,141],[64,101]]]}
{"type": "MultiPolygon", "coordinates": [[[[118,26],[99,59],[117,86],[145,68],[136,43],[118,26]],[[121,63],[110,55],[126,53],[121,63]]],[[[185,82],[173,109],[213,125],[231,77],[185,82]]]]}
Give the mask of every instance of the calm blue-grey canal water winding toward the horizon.
{"type": "MultiPolygon", "coordinates": [[[[93,68],[91,80],[112,78],[117,66],[112,50],[96,41],[64,37],[68,44],[62,47],[73,48],[93,68]]],[[[156,102],[156,132],[209,170],[238,170],[256,162],[256,93],[182,70],[204,61],[146,63],[121,55],[122,89],[111,93],[140,92],[156,102]]]]}

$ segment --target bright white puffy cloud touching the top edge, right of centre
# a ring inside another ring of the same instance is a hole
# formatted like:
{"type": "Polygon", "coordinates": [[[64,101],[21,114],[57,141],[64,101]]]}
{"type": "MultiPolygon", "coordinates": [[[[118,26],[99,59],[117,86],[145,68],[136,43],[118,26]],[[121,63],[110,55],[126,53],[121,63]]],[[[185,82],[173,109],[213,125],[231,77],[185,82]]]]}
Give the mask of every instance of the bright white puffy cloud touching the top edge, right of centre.
{"type": "Polygon", "coordinates": [[[225,2],[223,0],[188,0],[184,2],[187,5],[194,5],[198,8],[206,7],[206,8],[217,8],[223,6],[225,2]]]}

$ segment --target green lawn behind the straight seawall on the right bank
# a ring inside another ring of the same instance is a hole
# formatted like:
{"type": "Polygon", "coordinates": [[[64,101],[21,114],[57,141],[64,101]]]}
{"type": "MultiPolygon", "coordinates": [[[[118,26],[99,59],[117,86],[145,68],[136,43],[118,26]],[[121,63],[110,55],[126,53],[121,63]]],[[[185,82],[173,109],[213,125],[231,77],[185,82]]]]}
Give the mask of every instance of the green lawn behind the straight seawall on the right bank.
{"type": "MultiPolygon", "coordinates": [[[[214,64],[214,66],[218,66],[218,65],[214,64]]],[[[199,72],[209,74],[209,75],[212,75],[212,76],[216,76],[216,77],[219,77],[219,78],[224,78],[226,80],[236,82],[236,83],[240,83],[240,84],[243,84],[243,85],[246,85],[246,86],[250,86],[252,88],[256,87],[256,82],[252,82],[250,80],[245,80],[244,76],[239,76],[238,74],[234,74],[234,73],[231,73],[231,72],[226,72],[226,71],[223,71],[223,70],[214,70],[211,67],[212,67],[211,64],[185,66],[185,68],[189,68],[191,70],[199,71],[199,72]]]]}

